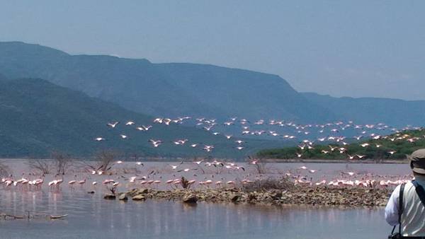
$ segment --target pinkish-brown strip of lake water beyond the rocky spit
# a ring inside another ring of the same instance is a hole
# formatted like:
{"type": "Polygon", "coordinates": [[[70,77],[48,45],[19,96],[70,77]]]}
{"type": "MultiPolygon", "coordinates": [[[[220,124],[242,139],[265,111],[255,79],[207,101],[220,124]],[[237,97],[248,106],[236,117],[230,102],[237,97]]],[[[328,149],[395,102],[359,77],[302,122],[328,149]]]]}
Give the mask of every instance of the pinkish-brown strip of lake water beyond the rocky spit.
{"type": "MultiPolygon", "coordinates": [[[[4,165],[8,165],[10,173],[13,174],[14,178],[20,179],[21,177],[29,178],[30,180],[38,178],[40,176],[30,176],[28,173],[35,172],[28,168],[28,161],[11,159],[11,160],[2,160],[4,165]],[[23,175],[23,173],[25,175],[23,175]]],[[[87,163],[87,162],[84,162],[87,163]]],[[[239,166],[243,166],[244,170],[227,170],[221,167],[207,167],[203,165],[196,165],[192,162],[186,162],[179,164],[176,162],[143,162],[144,166],[136,165],[135,162],[124,162],[121,164],[113,165],[113,175],[91,175],[88,173],[88,170],[84,170],[87,166],[81,161],[74,163],[74,167],[69,169],[69,173],[64,176],[55,177],[60,179],[63,177],[64,185],[69,180],[83,180],[86,179],[86,188],[89,189],[88,185],[91,185],[91,182],[102,182],[106,179],[115,180],[115,182],[120,182],[119,187],[135,187],[137,182],[134,184],[129,184],[128,180],[125,180],[125,177],[129,178],[132,176],[137,176],[140,178],[142,176],[147,176],[149,180],[161,180],[162,183],[155,185],[157,188],[166,189],[169,188],[169,185],[166,185],[164,182],[166,180],[174,180],[180,178],[181,176],[186,177],[188,180],[204,181],[212,180],[213,182],[221,180],[226,182],[227,180],[242,180],[244,178],[249,180],[258,180],[268,177],[282,177],[285,173],[292,173],[293,175],[305,176],[312,181],[319,180],[334,180],[334,179],[351,179],[351,180],[361,180],[363,177],[375,178],[375,179],[400,179],[404,175],[411,174],[412,171],[407,164],[371,164],[371,163],[267,163],[266,170],[267,173],[259,175],[256,171],[254,165],[248,165],[246,163],[237,163],[239,166]],[[170,165],[178,165],[176,170],[172,170],[170,165]],[[308,169],[317,170],[316,173],[310,173],[307,170],[300,170],[301,166],[306,166],[308,169]],[[187,173],[177,172],[184,168],[190,168],[191,170],[187,173]],[[152,175],[149,173],[155,172],[152,175]],[[357,173],[354,176],[341,175],[342,172],[355,172],[357,173]],[[385,177],[385,178],[384,178],[385,177]]],[[[89,162],[91,165],[96,165],[96,162],[89,162]]],[[[46,175],[45,182],[54,179],[55,174],[50,173],[46,175]]],[[[46,183],[44,185],[46,187],[46,183]]],[[[194,185],[193,187],[198,187],[194,185]]],[[[69,187],[62,187],[62,190],[67,190],[69,187]]]]}

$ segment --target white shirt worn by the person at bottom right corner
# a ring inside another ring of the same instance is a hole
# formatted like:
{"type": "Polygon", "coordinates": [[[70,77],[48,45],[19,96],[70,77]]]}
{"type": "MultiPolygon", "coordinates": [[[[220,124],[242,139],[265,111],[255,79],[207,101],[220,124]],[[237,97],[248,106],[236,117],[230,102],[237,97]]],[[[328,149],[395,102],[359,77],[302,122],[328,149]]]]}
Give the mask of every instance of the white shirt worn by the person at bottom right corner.
{"type": "MultiPolygon", "coordinates": [[[[416,176],[415,180],[422,187],[425,186],[424,176],[416,176]]],[[[392,192],[387,206],[385,207],[385,220],[391,226],[395,226],[399,223],[399,192],[400,186],[397,186],[394,192],[392,192]]],[[[419,199],[419,196],[416,194],[416,190],[412,182],[408,182],[404,186],[402,235],[425,236],[425,207],[419,199]]]]}

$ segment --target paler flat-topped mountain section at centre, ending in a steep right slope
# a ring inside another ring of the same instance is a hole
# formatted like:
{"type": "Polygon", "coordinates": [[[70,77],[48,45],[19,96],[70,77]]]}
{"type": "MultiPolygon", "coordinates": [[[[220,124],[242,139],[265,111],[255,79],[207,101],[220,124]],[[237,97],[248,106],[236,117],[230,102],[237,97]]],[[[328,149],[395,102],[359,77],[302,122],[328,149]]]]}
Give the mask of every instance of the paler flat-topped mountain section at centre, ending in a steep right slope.
{"type": "Polygon", "coordinates": [[[200,102],[219,105],[229,117],[300,119],[316,122],[333,114],[310,103],[283,78],[255,71],[200,64],[155,64],[174,87],[191,88],[200,102]]]}

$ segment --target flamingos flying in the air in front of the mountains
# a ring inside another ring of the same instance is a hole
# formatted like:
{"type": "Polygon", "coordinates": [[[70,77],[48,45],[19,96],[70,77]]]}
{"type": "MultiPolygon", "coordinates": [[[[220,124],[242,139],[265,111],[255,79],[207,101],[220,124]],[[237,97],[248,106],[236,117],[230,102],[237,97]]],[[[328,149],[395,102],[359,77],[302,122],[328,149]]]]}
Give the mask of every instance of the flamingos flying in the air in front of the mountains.
{"type": "MultiPolygon", "coordinates": [[[[153,120],[154,124],[183,124],[186,121],[190,121],[191,117],[178,117],[176,119],[170,118],[156,118],[153,120]]],[[[193,121],[192,121],[193,122],[193,121]]],[[[314,148],[314,144],[329,142],[339,144],[341,146],[329,146],[329,150],[322,150],[324,155],[334,152],[346,154],[347,159],[363,159],[365,155],[350,155],[347,153],[346,142],[347,139],[360,141],[361,139],[387,139],[390,141],[396,140],[407,140],[414,142],[419,140],[419,138],[402,136],[401,134],[397,137],[390,138],[385,134],[389,133],[400,133],[408,129],[421,129],[420,127],[403,127],[402,129],[397,129],[395,127],[390,127],[384,123],[378,124],[355,124],[353,121],[348,122],[329,122],[326,124],[295,124],[294,122],[285,122],[283,120],[271,119],[268,122],[264,119],[259,119],[255,122],[250,122],[247,119],[237,119],[237,117],[232,117],[229,121],[219,123],[217,119],[205,119],[205,118],[196,118],[195,121],[196,127],[202,127],[207,132],[215,136],[224,136],[225,140],[234,140],[235,146],[239,151],[242,151],[246,146],[244,145],[246,141],[238,138],[233,139],[234,135],[226,132],[238,132],[238,136],[244,136],[245,139],[249,139],[250,136],[263,136],[265,137],[274,137],[277,139],[287,139],[287,140],[297,140],[300,142],[298,147],[300,151],[295,153],[295,158],[302,158],[302,152],[305,149],[314,148]],[[239,129],[229,128],[231,126],[240,127],[239,129]],[[240,134],[239,134],[240,133],[240,134]],[[344,134],[345,133],[345,134],[344,134]],[[312,139],[313,138],[313,139],[312,139]]],[[[118,129],[120,122],[109,122],[106,124],[111,129],[118,129]]],[[[125,127],[134,127],[136,125],[133,121],[125,122],[125,127]]],[[[141,132],[148,132],[153,128],[152,125],[140,125],[135,126],[135,129],[141,132]]],[[[120,139],[128,140],[129,136],[125,134],[119,134],[120,139]]],[[[105,141],[106,139],[102,136],[97,136],[94,138],[96,141],[105,141]]],[[[152,144],[154,148],[159,148],[165,142],[162,139],[149,139],[149,143],[152,144]]],[[[201,144],[199,142],[191,142],[189,139],[176,139],[171,142],[176,146],[185,146],[189,145],[191,148],[202,147],[204,151],[211,152],[215,146],[212,144],[201,144]]],[[[380,144],[370,145],[368,143],[360,144],[362,147],[375,146],[377,148],[381,147],[380,144]]],[[[392,156],[394,153],[397,153],[395,150],[389,150],[387,153],[392,156]]]]}

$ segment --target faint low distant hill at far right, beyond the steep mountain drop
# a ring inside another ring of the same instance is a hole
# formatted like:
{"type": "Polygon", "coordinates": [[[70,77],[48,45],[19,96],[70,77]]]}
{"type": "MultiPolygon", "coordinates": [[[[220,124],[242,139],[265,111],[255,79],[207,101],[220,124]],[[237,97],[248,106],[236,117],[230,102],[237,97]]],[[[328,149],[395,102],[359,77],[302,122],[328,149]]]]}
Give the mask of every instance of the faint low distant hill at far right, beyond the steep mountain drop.
{"type": "Polygon", "coordinates": [[[302,93],[308,100],[337,112],[341,119],[354,122],[385,122],[395,127],[406,124],[425,125],[425,100],[395,100],[387,98],[334,98],[317,93],[302,93]]]}

